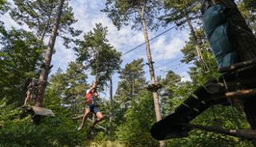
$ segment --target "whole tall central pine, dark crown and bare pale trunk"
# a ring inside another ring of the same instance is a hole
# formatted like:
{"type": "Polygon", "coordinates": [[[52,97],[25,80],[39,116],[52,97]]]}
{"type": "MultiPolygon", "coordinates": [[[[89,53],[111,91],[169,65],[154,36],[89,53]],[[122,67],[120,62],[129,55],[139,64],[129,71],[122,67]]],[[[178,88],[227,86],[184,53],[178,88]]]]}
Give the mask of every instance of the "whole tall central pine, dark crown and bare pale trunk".
{"type": "MultiPolygon", "coordinates": [[[[128,25],[132,22],[132,29],[142,30],[146,42],[146,55],[147,62],[150,70],[151,84],[156,84],[156,79],[154,76],[154,66],[150,52],[150,42],[148,37],[148,28],[154,30],[158,28],[159,23],[158,14],[161,12],[162,1],[154,0],[107,0],[106,8],[102,10],[105,12],[112,22],[118,29],[123,25],[128,25]]],[[[160,102],[158,98],[158,92],[154,91],[154,103],[155,103],[155,113],[157,121],[162,119],[160,102]]],[[[160,146],[165,146],[165,141],[160,141],[160,146]]]]}

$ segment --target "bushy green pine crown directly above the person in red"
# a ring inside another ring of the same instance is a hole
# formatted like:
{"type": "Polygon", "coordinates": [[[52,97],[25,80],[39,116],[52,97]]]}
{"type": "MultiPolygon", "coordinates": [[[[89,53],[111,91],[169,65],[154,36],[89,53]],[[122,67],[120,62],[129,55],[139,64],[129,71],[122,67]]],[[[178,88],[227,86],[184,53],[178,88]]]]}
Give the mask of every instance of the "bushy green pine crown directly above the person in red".
{"type": "Polygon", "coordinates": [[[120,69],[122,63],[121,53],[109,44],[106,35],[107,28],[101,23],[96,24],[92,31],[84,35],[84,41],[75,49],[78,61],[91,67],[91,74],[98,77],[99,85],[102,86],[120,69]]]}

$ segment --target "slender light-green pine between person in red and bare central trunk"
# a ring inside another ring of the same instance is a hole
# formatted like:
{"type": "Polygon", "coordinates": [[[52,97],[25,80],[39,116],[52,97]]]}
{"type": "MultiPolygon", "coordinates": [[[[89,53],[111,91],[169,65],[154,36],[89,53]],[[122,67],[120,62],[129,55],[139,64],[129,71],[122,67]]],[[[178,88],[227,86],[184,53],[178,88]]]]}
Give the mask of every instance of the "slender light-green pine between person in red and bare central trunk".
{"type": "Polygon", "coordinates": [[[145,89],[146,78],[143,70],[143,59],[137,59],[126,64],[120,71],[118,89],[114,95],[114,123],[118,127],[125,122],[124,114],[134,101],[145,89]]]}

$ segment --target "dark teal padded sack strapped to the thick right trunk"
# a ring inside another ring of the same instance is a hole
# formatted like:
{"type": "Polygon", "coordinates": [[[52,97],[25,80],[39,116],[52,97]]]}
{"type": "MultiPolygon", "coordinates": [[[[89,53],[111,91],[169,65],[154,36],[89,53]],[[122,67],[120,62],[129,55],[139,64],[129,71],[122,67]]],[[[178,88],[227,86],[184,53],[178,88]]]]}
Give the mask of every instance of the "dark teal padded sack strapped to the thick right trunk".
{"type": "Polygon", "coordinates": [[[234,43],[230,40],[228,10],[222,4],[211,6],[203,15],[206,38],[214,53],[218,67],[226,67],[237,62],[234,43]]]}

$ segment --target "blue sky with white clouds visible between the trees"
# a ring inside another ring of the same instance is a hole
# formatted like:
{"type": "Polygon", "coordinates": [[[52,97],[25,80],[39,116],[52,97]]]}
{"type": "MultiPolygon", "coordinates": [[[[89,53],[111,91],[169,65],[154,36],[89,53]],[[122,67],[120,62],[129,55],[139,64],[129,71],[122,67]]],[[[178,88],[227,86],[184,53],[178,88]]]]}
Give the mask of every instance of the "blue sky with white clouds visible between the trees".
{"type": "MultiPolygon", "coordinates": [[[[145,42],[142,31],[131,30],[130,26],[123,26],[121,30],[117,30],[112,24],[111,20],[106,17],[100,10],[104,7],[104,0],[72,0],[70,5],[74,8],[74,16],[78,19],[78,22],[74,24],[74,27],[82,30],[83,34],[94,28],[95,23],[101,22],[103,26],[107,26],[109,34],[107,35],[110,44],[114,46],[117,50],[125,53],[127,50],[132,49],[134,46],[145,42]]],[[[5,22],[7,29],[11,26],[17,28],[23,28],[29,30],[27,26],[18,26],[9,16],[5,14],[1,17],[2,21],[5,22]]],[[[159,28],[157,31],[149,32],[149,37],[153,38],[162,31],[174,26],[170,24],[166,28],[159,28]]],[[[165,76],[166,70],[174,70],[177,74],[182,76],[183,81],[190,80],[187,74],[188,65],[180,64],[179,59],[182,57],[181,49],[185,45],[189,37],[189,31],[187,28],[183,30],[170,30],[166,34],[161,35],[159,38],[154,39],[151,43],[151,53],[152,58],[155,62],[155,74],[156,76],[165,76]],[[169,63],[169,64],[167,64],[169,63]]],[[[82,38],[82,35],[81,35],[82,38]]],[[[46,39],[45,42],[48,42],[46,39]]],[[[52,59],[52,64],[54,68],[52,70],[53,74],[58,67],[62,70],[66,70],[66,66],[69,62],[74,61],[76,56],[73,50],[67,50],[62,46],[62,39],[57,38],[55,44],[56,54],[54,54],[52,59]]],[[[126,54],[122,57],[122,67],[126,63],[132,62],[134,59],[144,58],[146,63],[146,50],[145,46],[141,46],[137,50],[134,50],[130,54],[126,54]]],[[[150,75],[148,72],[148,66],[145,66],[146,78],[150,80],[150,75]]],[[[94,77],[89,78],[91,82],[94,77]]],[[[114,89],[116,89],[118,84],[118,74],[114,75],[114,89]]]]}

